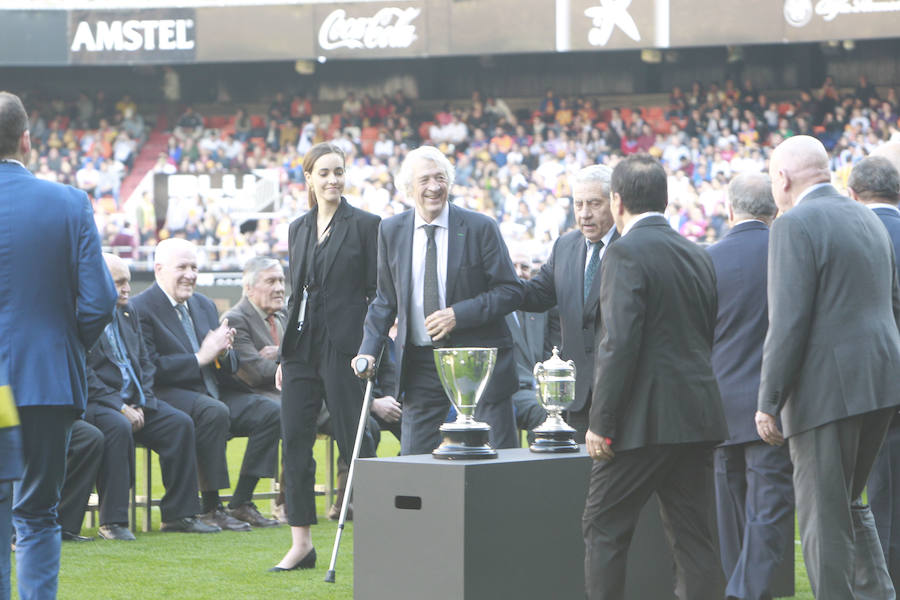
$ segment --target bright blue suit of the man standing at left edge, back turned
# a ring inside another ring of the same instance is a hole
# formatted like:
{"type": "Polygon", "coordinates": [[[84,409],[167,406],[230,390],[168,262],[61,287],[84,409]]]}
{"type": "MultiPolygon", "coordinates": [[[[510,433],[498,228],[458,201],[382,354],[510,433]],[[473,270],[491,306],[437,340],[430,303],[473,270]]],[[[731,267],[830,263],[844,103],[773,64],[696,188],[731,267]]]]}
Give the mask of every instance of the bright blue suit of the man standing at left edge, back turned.
{"type": "Polygon", "coordinates": [[[87,398],[85,348],[115,302],[84,192],[0,162],[0,359],[9,366],[25,458],[13,494],[22,600],[56,597],[56,507],[69,432],[87,398]]]}

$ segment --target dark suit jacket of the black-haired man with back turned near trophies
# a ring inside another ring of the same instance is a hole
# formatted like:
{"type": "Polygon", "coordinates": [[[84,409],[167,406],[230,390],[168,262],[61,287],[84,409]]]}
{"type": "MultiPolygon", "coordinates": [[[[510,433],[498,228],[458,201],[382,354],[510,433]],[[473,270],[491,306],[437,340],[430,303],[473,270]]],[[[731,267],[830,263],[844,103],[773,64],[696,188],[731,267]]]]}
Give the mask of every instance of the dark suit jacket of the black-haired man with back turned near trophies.
{"type": "Polygon", "coordinates": [[[716,274],[705,250],[662,216],[610,245],[590,429],[613,449],[728,437],[712,372],[716,274]]]}

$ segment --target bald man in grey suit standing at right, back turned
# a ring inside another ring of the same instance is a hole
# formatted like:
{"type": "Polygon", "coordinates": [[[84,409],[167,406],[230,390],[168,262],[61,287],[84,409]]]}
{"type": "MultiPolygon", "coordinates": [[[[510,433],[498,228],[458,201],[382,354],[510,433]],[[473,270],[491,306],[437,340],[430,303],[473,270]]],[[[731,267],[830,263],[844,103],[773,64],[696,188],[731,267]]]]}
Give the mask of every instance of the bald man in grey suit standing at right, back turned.
{"type": "Polygon", "coordinates": [[[816,598],[894,598],[871,511],[858,501],[900,403],[891,239],[871,210],[831,186],[815,138],[782,142],[769,174],[784,214],[769,234],[757,430],[770,444],[789,441],[816,598]]]}

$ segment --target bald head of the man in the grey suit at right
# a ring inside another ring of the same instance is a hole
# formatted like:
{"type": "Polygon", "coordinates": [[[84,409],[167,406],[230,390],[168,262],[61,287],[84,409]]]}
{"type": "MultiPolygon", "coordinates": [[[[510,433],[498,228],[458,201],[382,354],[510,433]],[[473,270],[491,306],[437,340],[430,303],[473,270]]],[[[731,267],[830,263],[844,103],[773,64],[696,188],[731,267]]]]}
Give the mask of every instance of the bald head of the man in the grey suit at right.
{"type": "Polygon", "coordinates": [[[769,176],[775,203],[782,212],[789,210],[806,188],[831,181],[828,151],[814,137],[789,137],[772,151],[769,176]]]}

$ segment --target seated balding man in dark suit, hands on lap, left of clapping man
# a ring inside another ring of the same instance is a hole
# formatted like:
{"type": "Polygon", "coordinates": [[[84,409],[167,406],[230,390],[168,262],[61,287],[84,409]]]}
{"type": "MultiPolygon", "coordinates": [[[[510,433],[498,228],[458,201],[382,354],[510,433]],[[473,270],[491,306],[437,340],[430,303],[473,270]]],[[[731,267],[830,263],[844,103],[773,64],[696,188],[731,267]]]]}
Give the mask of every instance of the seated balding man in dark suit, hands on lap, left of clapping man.
{"type": "Polygon", "coordinates": [[[88,353],[86,418],[103,432],[103,460],[97,476],[100,529],[107,540],[134,540],[128,529],[128,490],[135,479],[134,448],[141,443],[159,455],[166,493],[159,503],[161,531],[214,533],[203,523],[197,501],[194,423],[153,392],[155,369],[138,315],[129,303],[131,273],[118,256],[104,254],[119,292],[112,323],[88,353]]]}

